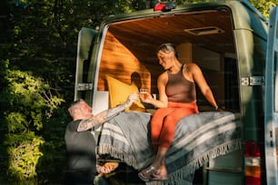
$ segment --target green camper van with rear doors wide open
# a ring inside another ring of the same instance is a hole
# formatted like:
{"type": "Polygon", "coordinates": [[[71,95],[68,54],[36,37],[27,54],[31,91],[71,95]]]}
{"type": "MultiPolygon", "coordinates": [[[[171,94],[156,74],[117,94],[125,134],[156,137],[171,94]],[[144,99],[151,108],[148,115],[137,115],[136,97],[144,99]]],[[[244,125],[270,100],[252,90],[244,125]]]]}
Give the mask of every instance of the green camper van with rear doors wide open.
{"type": "MultiPolygon", "coordinates": [[[[202,68],[218,105],[240,114],[241,148],[206,161],[203,184],[278,184],[277,15],[273,7],[268,21],[248,1],[227,0],[108,16],[79,33],[74,100],[94,114],[109,108],[107,75],[158,97],[155,50],[173,43],[180,61],[202,68]]],[[[197,95],[200,112],[213,111],[197,95]]]]}

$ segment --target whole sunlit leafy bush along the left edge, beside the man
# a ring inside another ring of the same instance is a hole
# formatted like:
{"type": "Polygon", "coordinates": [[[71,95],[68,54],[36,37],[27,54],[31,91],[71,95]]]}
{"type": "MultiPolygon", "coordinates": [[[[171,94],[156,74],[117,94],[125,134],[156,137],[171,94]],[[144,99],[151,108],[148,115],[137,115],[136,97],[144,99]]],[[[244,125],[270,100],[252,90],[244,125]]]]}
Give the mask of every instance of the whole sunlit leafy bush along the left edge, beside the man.
{"type": "Polygon", "coordinates": [[[2,180],[41,184],[57,174],[61,180],[67,116],[59,105],[64,100],[43,79],[9,70],[8,61],[0,61],[0,73],[0,103],[5,105],[0,110],[0,168],[7,169],[1,170],[2,180]]]}

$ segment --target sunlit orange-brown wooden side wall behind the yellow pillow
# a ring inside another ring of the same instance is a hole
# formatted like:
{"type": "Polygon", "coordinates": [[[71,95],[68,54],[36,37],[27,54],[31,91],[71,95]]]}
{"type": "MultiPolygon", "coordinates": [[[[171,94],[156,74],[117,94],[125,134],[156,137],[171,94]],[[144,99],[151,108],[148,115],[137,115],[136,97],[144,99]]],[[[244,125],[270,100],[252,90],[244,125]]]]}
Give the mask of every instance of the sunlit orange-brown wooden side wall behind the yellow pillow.
{"type": "Polygon", "coordinates": [[[109,32],[106,35],[101,57],[97,87],[99,91],[108,90],[105,81],[106,74],[123,83],[130,84],[133,80],[138,88],[151,89],[150,71],[109,32]]]}

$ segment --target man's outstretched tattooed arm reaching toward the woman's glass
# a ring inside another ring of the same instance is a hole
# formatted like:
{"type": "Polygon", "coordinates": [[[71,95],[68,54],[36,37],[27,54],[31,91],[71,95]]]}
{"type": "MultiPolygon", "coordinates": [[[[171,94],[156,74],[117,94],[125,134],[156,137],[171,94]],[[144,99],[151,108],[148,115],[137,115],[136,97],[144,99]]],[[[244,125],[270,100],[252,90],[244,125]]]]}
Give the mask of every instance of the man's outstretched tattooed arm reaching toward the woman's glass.
{"type": "Polygon", "coordinates": [[[125,108],[131,106],[138,99],[138,97],[139,95],[137,93],[133,93],[128,97],[124,104],[118,105],[104,112],[100,112],[87,120],[81,121],[78,125],[77,131],[87,131],[95,126],[98,126],[99,124],[109,121],[120,112],[123,112],[125,108]]]}

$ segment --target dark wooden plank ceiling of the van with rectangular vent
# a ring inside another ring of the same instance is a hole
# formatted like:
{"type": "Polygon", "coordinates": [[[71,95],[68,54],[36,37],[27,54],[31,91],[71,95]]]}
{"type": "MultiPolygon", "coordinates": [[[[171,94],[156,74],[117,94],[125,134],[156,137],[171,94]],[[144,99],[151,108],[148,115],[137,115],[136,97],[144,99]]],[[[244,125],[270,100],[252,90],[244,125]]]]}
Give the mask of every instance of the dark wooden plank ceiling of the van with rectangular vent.
{"type": "MultiPolygon", "coordinates": [[[[124,23],[110,24],[108,32],[126,47],[144,47],[150,50],[163,43],[198,44],[214,52],[234,52],[233,24],[229,11],[207,11],[164,15],[124,23]],[[224,31],[222,34],[194,35],[185,29],[215,26],[224,31]]],[[[135,50],[135,48],[134,48],[135,50]]]]}

